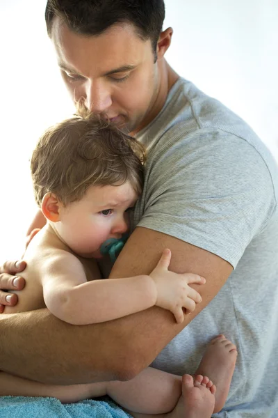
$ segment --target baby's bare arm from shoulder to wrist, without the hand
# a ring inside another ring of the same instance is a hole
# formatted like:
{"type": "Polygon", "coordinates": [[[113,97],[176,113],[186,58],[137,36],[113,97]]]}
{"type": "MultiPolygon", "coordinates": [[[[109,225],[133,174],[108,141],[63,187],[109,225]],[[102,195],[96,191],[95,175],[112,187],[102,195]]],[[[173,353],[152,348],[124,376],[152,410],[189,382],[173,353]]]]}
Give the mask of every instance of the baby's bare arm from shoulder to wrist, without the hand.
{"type": "Polygon", "coordinates": [[[41,268],[44,302],[73,325],[101,323],[154,306],[156,285],[147,275],[87,281],[79,258],[59,251],[41,268]]]}

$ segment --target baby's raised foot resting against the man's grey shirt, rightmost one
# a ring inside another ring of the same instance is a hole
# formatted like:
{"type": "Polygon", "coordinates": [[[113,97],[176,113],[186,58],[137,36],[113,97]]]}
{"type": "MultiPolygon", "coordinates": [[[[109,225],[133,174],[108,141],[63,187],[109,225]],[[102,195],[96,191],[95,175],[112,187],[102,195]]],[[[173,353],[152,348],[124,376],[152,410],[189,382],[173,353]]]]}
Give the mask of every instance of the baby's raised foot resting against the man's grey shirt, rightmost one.
{"type": "Polygon", "coordinates": [[[224,407],[237,355],[236,346],[227,340],[223,334],[218,335],[206,348],[206,352],[196,371],[196,374],[208,376],[217,387],[213,412],[219,412],[224,407]]]}

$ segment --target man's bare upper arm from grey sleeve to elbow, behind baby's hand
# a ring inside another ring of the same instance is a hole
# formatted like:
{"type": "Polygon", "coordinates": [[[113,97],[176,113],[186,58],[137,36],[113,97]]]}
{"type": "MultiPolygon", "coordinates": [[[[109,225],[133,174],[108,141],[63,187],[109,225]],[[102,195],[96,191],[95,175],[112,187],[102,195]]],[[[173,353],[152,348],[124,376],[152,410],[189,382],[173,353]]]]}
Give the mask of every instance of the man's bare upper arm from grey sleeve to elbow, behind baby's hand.
{"type": "Polygon", "coordinates": [[[140,316],[132,316],[134,332],[129,341],[129,351],[126,353],[127,362],[133,364],[131,373],[139,373],[152,363],[167,343],[211,302],[233,270],[227,261],[211,252],[170,235],[138,227],[117,258],[110,277],[123,277],[124,274],[136,274],[139,271],[141,274],[148,274],[165,247],[172,251],[170,270],[194,272],[206,277],[206,284],[201,288],[191,285],[199,291],[202,302],[197,304],[192,314],[186,315],[179,326],[173,324],[169,312],[165,313],[157,307],[143,311],[140,316]]]}

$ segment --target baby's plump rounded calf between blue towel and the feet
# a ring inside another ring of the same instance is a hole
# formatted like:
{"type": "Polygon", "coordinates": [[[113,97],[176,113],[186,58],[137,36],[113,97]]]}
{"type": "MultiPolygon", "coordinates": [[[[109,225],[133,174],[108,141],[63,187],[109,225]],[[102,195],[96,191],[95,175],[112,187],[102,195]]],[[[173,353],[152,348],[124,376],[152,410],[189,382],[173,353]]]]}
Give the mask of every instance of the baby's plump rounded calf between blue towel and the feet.
{"type": "Polygon", "coordinates": [[[106,394],[133,412],[149,415],[170,412],[181,396],[181,376],[148,367],[127,382],[106,382],[106,394]]]}

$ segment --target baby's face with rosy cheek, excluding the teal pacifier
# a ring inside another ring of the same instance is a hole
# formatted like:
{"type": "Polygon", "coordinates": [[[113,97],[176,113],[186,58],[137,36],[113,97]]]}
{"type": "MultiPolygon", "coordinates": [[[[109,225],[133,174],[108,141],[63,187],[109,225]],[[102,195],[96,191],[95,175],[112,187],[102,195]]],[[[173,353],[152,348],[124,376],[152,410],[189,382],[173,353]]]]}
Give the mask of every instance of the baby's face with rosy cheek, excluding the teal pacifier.
{"type": "Polygon", "coordinates": [[[79,256],[101,258],[101,244],[109,238],[122,238],[129,230],[129,210],[137,199],[129,182],[120,186],[91,186],[81,201],[62,208],[56,229],[79,256]]]}

